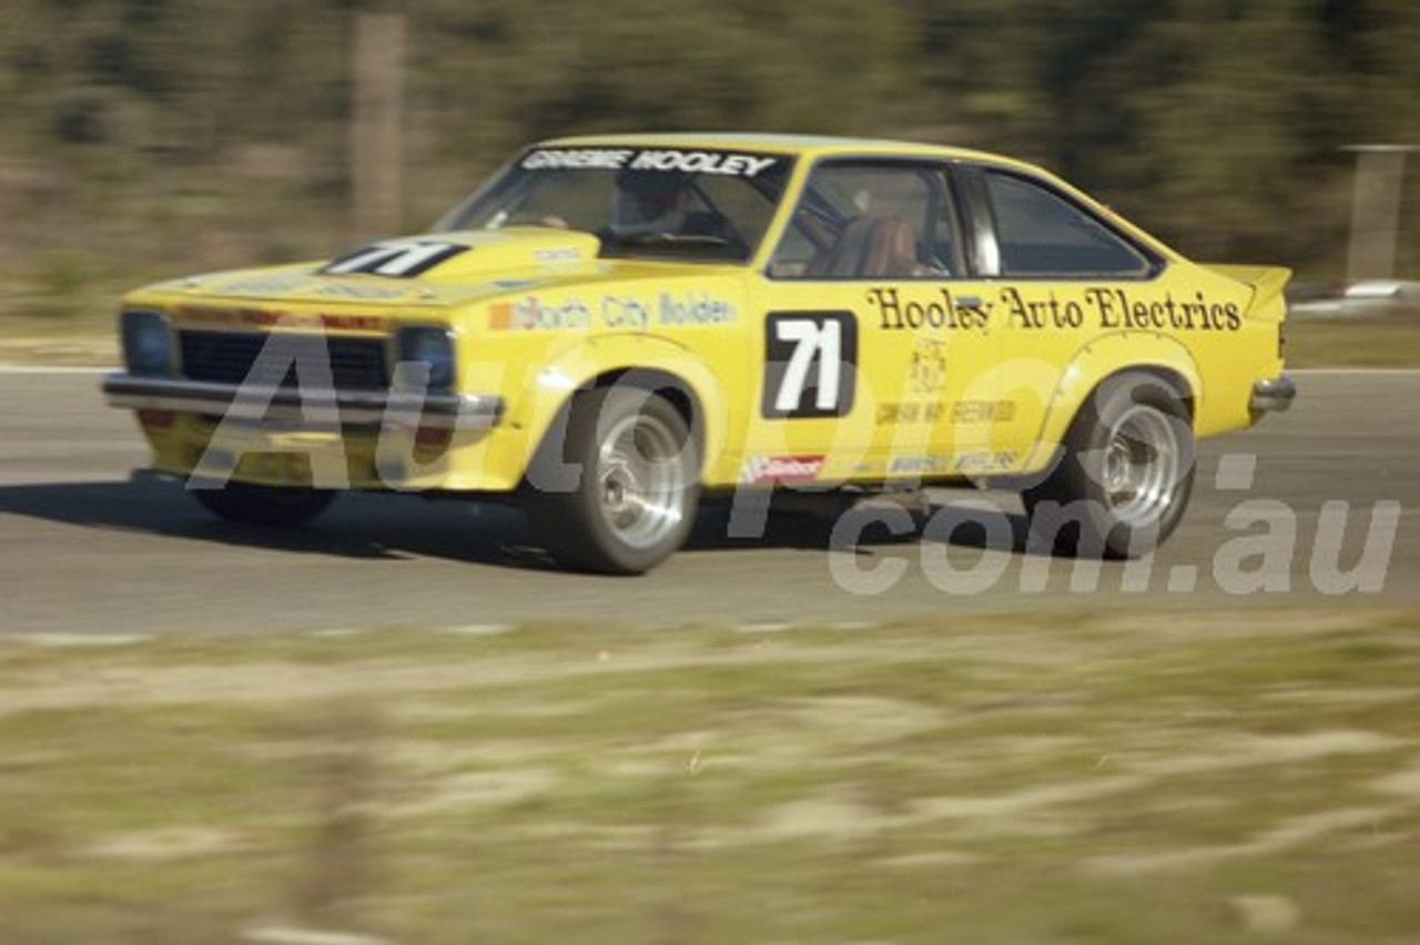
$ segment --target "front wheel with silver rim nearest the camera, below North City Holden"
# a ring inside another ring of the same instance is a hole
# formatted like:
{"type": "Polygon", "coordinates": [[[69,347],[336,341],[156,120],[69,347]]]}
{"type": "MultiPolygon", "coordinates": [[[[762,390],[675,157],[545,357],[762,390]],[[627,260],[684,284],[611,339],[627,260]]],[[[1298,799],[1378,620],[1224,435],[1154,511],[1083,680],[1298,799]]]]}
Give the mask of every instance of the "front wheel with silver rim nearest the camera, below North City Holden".
{"type": "Polygon", "coordinates": [[[684,543],[700,463],[674,406],[635,387],[588,390],[572,399],[565,436],[558,433],[554,427],[538,463],[557,460],[569,478],[534,475],[524,490],[538,538],[558,562],[639,575],[684,543]]]}

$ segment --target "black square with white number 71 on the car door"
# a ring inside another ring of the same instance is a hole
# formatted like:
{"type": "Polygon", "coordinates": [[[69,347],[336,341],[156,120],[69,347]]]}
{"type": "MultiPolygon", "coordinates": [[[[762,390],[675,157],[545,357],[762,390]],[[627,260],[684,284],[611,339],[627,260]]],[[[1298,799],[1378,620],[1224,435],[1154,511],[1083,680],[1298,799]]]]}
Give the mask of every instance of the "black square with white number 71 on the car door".
{"type": "Polygon", "coordinates": [[[852,312],[772,312],[764,321],[765,417],[842,417],[858,386],[852,312]]]}

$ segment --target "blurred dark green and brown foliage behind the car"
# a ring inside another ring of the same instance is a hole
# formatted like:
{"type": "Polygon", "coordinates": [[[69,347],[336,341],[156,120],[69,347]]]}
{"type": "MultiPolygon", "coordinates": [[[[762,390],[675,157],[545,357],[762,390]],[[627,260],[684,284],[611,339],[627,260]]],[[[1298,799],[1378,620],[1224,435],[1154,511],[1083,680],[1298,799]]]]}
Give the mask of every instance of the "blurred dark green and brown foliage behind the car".
{"type": "Polygon", "coordinates": [[[1342,148],[1420,143],[1413,0],[6,0],[0,314],[381,236],[349,213],[369,9],[408,16],[405,230],[538,136],[829,132],[1024,156],[1184,253],[1326,281],[1342,148]]]}

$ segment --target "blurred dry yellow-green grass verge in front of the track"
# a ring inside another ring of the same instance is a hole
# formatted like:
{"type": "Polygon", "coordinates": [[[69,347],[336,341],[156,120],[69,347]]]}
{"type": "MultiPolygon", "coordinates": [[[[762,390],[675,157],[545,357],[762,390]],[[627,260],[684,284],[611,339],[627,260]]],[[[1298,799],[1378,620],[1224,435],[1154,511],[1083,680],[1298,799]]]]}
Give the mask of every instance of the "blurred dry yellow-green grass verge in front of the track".
{"type": "Polygon", "coordinates": [[[1420,613],[0,641],[0,942],[1411,942],[1420,613]]]}

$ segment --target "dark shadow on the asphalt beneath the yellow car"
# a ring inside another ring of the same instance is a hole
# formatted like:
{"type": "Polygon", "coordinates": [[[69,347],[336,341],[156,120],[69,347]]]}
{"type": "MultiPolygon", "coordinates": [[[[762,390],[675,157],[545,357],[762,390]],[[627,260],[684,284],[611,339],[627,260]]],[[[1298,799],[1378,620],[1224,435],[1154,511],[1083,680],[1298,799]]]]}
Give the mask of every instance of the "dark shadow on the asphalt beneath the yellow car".
{"type": "MultiPolygon", "coordinates": [[[[236,525],[203,511],[180,484],[135,475],[131,481],[0,487],[0,515],[17,515],[104,532],[132,532],[294,555],[361,560],[437,558],[523,570],[555,570],[532,543],[524,516],[497,502],[426,499],[417,495],[342,495],[301,528],[236,525]]],[[[682,553],[791,549],[872,555],[878,546],[939,542],[1028,552],[1024,516],[998,512],[983,525],[980,511],[949,505],[924,516],[853,509],[772,512],[734,521],[727,502],[706,504],[682,553]],[[846,518],[845,518],[846,516],[846,518]],[[731,526],[733,525],[733,526],[731,526]]]]}

